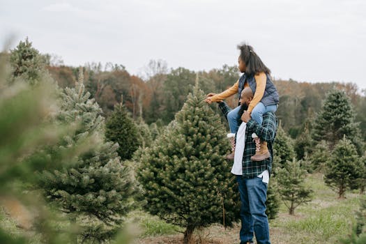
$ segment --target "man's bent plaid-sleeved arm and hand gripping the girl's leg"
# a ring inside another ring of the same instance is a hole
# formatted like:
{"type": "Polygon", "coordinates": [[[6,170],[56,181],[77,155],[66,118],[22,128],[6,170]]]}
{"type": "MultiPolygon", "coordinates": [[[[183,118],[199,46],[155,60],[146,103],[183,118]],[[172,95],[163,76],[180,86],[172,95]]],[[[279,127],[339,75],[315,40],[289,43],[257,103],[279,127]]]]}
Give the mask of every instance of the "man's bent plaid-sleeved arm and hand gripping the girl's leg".
{"type": "MultiPolygon", "coordinates": [[[[245,111],[244,114],[243,116],[245,117],[248,113],[245,111]]],[[[259,125],[257,121],[254,121],[254,119],[250,118],[247,121],[247,127],[249,130],[252,130],[257,134],[260,139],[266,142],[273,142],[277,130],[276,116],[271,112],[264,114],[263,123],[261,125],[259,125]]]]}

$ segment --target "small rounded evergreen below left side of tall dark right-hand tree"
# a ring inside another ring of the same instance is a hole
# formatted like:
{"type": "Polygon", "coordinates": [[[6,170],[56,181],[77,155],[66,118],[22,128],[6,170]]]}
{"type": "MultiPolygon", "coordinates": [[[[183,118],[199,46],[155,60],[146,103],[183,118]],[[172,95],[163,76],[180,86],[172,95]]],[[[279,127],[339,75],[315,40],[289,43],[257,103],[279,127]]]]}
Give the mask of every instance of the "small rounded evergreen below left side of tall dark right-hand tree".
{"type": "Polygon", "coordinates": [[[326,162],[328,162],[329,158],[330,158],[329,146],[326,143],[326,141],[322,140],[314,147],[314,150],[310,155],[310,162],[312,164],[312,169],[323,173],[326,168],[326,162]]]}

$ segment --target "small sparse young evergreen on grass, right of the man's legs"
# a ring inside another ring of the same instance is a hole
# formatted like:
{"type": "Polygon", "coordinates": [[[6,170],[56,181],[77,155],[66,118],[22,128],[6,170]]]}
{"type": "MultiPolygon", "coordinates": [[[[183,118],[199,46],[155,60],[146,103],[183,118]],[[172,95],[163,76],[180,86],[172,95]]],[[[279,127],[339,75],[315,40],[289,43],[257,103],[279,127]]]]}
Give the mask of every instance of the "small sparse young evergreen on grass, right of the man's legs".
{"type": "Polygon", "coordinates": [[[293,158],[287,161],[282,169],[277,171],[278,192],[289,208],[289,214],[293,215],[295,208],[300,204],[312,200],[312,190],[304,185],[306,170],[300,167],[300,161],[293,158]]]}

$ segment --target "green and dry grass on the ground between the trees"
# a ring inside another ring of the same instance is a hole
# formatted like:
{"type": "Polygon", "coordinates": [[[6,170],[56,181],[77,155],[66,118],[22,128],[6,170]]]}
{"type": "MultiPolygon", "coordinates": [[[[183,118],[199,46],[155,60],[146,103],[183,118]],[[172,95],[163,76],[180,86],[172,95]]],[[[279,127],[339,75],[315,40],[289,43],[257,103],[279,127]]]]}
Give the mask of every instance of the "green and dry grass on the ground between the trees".
{"type": "MultiPolygon", "coordinates": [[[[296,208],[295,215],[289,215],[287,208],[281,204],[278,217],[270,221],[273,244],[335,244],[350,233],[360,198],[365,195],[348,192],[346,199],[337,199],[337,194],[323,183],[322,177],[321,174],[307,176],[306,183],[314,190],[314,199],[309,204],[296,208]]],[[[3,210],[0,212],[0,222],[1,227],[14,236],[31,236],[31,233],[17,228],[16,222],[3,210]]],[[[182,243],[181,232],[184,229],[167,224],[142,210],[130,213],[126,222],[135,223],[138,229],[134,244],[182,243]]],[[[230,229],[213,224],[209,228],[196,230],[195,238],[200,244],[239,243],[239,229],[239,224],[230,229]]],[[[38,238],[39,236],[34,236],[32,243],[38,243],[38,238]]]]}

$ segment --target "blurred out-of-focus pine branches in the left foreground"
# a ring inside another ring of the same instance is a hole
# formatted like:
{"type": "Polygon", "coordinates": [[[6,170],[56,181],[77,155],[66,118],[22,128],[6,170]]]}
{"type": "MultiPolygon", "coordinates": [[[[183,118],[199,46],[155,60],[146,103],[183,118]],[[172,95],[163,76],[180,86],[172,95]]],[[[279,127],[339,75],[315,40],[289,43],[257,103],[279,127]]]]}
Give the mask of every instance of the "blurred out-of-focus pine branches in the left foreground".
{"type": "MultiPolygon", "coordinates": [[[[54,222],[67,224],[51,214],[38,192],[29,189],[37,178],[34,172],[58,169],[68,158],[77,155],[72,148],[64,148],[53,160],[40,146],[53,146],[73,131],[70,126],[55,126],[49,121],[56,109],[56,94],[52,82],[29,86],[29,80],[17,79],[9,83],[9,64],[0,56],[0,199],[1,207],[17,209],[10,214],[18,226],[31,228],[45,243],[65,243],[72,240],[67,227],[63,233],[55,231],[54,222]],[[6,204],[9,200],[11,204],[6,204]],[[4,204],[4,205],[3,205],[4,204]],[[31,211],[30,211],[31,210],[31,211]]],[[[22,238],[9,234],[0,227],[0,243],[29,243],[32,236],[22,238]]]]}

